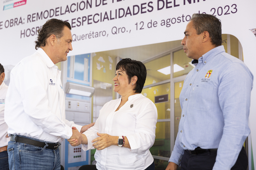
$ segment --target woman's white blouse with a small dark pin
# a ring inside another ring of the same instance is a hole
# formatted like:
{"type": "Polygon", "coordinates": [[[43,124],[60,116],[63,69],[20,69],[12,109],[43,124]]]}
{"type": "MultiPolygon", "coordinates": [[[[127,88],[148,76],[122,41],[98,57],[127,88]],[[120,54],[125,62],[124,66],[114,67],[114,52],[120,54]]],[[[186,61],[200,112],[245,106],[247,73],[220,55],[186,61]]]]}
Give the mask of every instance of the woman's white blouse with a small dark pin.
{"type": "Polygon", "coordinates": [[[135,94],[115,112],[120,102],[121,98],[111,100],[102,107],[95,125],[84,132],[88,145],[82,144],[82,149],[94,149],[92,140],[98,137],[97,132],[126,136],[131,149],[112,145],[95,152],[97,169],[144,170],[154,161],[149,148],[156,137],[156,106],[142,94],[135,94]]]}

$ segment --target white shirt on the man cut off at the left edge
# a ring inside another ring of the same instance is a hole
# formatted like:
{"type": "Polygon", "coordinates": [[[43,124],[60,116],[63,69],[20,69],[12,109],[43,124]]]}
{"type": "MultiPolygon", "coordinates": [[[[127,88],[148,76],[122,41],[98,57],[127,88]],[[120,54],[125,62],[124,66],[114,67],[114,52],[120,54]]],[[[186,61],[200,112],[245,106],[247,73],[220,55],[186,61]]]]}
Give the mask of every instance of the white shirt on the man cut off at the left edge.
{"type": "Polygon", "coordinates": [[[7,92],[8,86],[5,85],[4,82],[0,85],[0,148],[3,146],[7,146],[10,141],[7,135],[8,126],[4,122],[4,105],[5,105],[5,96],[7,92]]]}

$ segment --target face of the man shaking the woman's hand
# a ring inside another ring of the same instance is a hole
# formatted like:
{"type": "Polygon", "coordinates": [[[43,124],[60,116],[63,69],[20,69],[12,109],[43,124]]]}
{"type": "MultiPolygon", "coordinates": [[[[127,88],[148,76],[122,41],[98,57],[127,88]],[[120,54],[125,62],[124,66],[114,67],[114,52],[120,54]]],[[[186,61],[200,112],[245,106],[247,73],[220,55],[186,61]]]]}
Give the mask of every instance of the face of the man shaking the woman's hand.
{"type": "MultiPolygon", "coordinates": [[[[58,62],[66,61],[67,55],[69,51],[72,51],[72,34],[70,29],[65,26],[63,31],[63,36],[57,39],[57,46],[56,46],[56,60],[58,62]]],[[[57,62],[57,63],[58,63],[57,62]]]]}

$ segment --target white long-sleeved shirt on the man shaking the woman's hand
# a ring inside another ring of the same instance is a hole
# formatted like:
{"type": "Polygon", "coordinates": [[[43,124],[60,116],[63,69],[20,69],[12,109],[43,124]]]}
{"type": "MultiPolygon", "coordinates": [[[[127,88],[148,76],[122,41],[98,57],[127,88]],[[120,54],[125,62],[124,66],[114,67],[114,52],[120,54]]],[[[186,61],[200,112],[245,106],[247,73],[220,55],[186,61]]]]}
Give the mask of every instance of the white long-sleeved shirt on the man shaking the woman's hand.
{"type": "Polygon", "coordinates": [[[12,69],[4,112],[9,135],[55,143],[69,139],[72,126],[81,130],[82,126],[65,119],[60,73],[42,48],[12,69]]]}

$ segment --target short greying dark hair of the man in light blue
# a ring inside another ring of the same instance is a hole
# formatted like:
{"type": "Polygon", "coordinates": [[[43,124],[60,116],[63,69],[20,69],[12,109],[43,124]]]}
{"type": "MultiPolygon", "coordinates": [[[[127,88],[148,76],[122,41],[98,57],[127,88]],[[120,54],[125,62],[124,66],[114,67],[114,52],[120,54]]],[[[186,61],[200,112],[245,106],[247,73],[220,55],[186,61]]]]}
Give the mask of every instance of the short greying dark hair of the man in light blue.
{"type": "Polygon", "coordinates": [[[193,21],[193,27],[198,35],[207,31],[212,44],[216,47],[221,45],[221,22],[218,18],[210,14],[193,14],[190,21],[193,21]]]}

